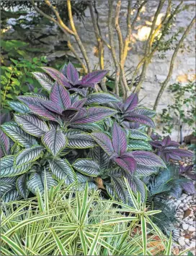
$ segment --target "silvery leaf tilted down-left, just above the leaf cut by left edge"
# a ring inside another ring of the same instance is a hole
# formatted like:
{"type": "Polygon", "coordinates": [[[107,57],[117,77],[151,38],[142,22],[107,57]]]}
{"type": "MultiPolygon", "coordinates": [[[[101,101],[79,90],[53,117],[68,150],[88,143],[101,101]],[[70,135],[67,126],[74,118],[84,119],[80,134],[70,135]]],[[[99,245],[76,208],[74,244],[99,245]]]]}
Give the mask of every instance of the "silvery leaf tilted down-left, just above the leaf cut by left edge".
{"type": "Polygon", "coordinates": [[[25,163],[31,163],[40,158],[43,153],[44,148],[42,146],[34,146],[32,148],[27,148],[19,152],[14,159],[14,165],[16,167],[22,166],[25,163]]]}

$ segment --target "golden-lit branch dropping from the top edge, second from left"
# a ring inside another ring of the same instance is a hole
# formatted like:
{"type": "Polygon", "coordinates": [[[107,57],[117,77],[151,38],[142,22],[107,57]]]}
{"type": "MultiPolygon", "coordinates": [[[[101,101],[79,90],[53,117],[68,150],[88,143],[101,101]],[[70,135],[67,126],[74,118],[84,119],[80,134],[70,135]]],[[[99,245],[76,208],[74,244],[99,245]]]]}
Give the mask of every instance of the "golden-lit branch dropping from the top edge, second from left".
{"type": "Polygon", "coordinates": [[[67,7],[68,7],[68,18],[69,18],[69,22],[70,22],[70,25],[71,25],[71,29],[74,32],[74,38],[76,39],[76,42],[78,43],[79,48],[81,50],[81,54],[84,57],[84,60],[86,62],[86,67],[88,69],[88,72],[91,72],[91,68],[90,68],[90,64],[89,64],[89,59],[87,57],[86,50],[85,50],[85,48],[83,46],[83,43],[81,43],[81,39],[79,38],[79,34],[77,33],[76,27],[74,25],[74,19],[73,19],[73,15],[72,15],[72,11],[71,11],[71,0],[67,0],[67,7]]]}

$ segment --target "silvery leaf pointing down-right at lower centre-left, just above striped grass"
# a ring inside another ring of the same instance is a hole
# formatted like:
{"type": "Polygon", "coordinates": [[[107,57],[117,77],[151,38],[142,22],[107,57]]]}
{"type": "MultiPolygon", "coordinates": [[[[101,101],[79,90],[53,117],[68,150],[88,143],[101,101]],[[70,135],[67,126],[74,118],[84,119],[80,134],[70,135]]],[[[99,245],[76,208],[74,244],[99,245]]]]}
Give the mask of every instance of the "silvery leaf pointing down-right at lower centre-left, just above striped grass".
{"type": "Polygon", "coordinates": [[[55,158],[50,162],[50,171],[55,179],[65,179],[66,184],[71,184],[76,180],[76,174],[71,164],[66,159],[55,158]]]}

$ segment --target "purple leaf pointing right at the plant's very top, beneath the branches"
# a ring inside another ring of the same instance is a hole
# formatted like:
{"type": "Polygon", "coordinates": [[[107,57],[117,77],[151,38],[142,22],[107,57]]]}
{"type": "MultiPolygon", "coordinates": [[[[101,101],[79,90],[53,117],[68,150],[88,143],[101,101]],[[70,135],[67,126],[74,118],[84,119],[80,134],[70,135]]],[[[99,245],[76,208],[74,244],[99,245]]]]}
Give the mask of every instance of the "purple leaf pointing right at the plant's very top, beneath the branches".
{"type": "Polygon", "coordinates": [[[83,77],[80,81],[81,85],[96,85],[97,82],[100,82],[103,79],[107,72],[107,70],[97,70],[92,73],[86,74],[86,76],[83,77]]]}

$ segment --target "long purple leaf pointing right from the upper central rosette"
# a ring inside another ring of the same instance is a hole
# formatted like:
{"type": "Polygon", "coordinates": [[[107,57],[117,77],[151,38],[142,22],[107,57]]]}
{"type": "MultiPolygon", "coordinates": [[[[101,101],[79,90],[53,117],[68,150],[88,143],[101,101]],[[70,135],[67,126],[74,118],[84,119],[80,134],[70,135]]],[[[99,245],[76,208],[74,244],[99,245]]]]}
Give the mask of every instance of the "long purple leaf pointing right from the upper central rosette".
{"type": "Polygon", "coordinates": [[[72,121],[74,124],[88,124],[94,121],[101,121],[115,113],[116,111],[113,109],[105,107],[84,108],[79,111],[72,121]]]}

